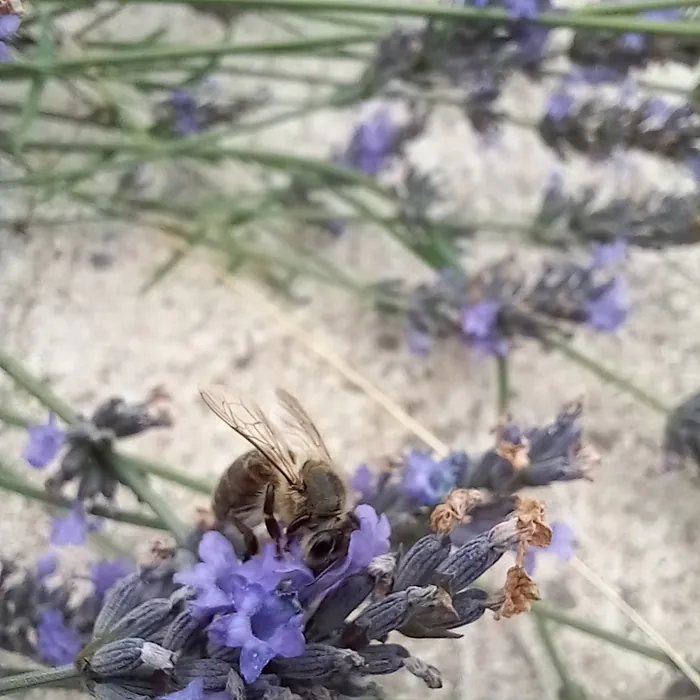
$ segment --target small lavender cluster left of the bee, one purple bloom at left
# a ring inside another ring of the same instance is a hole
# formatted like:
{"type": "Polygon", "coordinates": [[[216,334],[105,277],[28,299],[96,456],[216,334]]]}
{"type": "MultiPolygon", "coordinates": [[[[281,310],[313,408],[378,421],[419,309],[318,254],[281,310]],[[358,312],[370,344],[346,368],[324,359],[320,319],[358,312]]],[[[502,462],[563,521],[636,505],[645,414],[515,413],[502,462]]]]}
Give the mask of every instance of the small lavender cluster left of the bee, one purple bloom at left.
{"type": "MultiPolygon", "coordinates": [[[[97,407],[91,418],[67,429],[59,426],[52,413],[44,425],[29,428],[24,459],[35,469],[45,469],[66,448],[58,470],[46,480],[47,490],[61,493],[66,484],[77,481],[79,504],[93,501],[100,494],[112,500],[119,483],[111,467],[115,440],[172,425],[169,414],[161,406],[167,398],[160,388],[154,389],[141,403],[128,404],[122,398],[110,398],[97,407]]],[[[75,531],[78,521],[86,519],[82,506],[76,506],[70,517],[67,529],[75,531]]]]}

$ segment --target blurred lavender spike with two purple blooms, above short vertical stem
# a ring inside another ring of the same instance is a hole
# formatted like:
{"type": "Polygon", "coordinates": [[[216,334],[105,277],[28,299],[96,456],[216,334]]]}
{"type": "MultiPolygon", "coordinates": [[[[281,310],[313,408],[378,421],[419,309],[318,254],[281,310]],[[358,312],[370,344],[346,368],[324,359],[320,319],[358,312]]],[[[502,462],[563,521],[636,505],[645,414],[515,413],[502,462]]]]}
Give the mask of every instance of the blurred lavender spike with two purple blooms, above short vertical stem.
{"type": "MultiPolygon", "coordinates": [[[[482,355],[505,355],[517,336],[544,339],[547,331],[566,332],[572,324],[614,332],[630,309],[627,282],[617,271],[625,255],[622,240],[596,244],[589,262],[548,264],[532,282],[511,258],[485,267],[469,283],[456,270],[444,270],[435,283],[403,293],[409,345],[425,354],[435,339],[459,336],[482,355]]],[[[401,296],[400,285],[388,286],[401,296]]]]}

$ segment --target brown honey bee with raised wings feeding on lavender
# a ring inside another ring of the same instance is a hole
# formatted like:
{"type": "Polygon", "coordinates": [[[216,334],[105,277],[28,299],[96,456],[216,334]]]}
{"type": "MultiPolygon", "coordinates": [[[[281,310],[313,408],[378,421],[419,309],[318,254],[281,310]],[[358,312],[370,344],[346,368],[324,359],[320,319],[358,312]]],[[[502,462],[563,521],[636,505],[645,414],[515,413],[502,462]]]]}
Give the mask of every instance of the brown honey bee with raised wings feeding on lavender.
{"type": "Polygon", "coordinates": [[[348,510],[345,481],[299,401],[286,391],[277,392],[301,447],[294,450],[257,407],[200,393],[207,406],[253,447],[231,464],[214,491],[217,521],[232,523],[241,531],[251,556],[259,547],[253,527],[262,515],[280,554],[282,521],[286,542],[301,543],[306,564],[314,573],[343,558],[359,522],[348,510]]]}

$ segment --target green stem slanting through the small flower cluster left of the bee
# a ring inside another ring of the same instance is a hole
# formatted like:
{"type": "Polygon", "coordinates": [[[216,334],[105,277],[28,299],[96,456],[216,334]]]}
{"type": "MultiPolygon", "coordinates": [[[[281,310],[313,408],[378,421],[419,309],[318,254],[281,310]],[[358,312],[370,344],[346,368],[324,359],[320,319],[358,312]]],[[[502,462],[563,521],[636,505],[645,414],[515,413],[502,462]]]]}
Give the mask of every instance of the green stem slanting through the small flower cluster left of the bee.
{"type": "MultiPolygon", "coordinates": [[[[3,350],[0,350],[0,368],[66,423],[76,425],[79,422],[78,414],[68,404],[59,399],[49,387],[29,374],[19,362],[3,350]]],[[[115,455],[112,467],[119,480],[129,486],[139,499],[151,506],[178,544],[184,544],[189,532],[187,526],[180,520],[167,501],[151,488],[143,475],[130,469],[128,461],[124,461],[118,455],[115,455]]]]}

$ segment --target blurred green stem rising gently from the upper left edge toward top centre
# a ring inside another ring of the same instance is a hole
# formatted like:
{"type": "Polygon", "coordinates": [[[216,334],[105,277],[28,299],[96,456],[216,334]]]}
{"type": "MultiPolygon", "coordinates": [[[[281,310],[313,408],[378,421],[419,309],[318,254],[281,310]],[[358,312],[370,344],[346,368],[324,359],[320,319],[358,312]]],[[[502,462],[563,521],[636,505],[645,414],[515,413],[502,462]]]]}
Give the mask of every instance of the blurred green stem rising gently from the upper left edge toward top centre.
{"type": "MultiPolygon", "coordinates": [[[[269,41],[259,43],[225,43],[209,46],[158,46],[139,50],[113,51],[109,53],[85,54],[78,58],[65,58],[51,64],[54,75],[83,72],[87,68],[104,67],[114,70],[120,66],[144,64],[153,67],[157,63],[170,63],[192,58],[233,56],[241,54],[285,54],[309,53],[326,48],[376,41],[379,36],[372,32],[353,33],[344,36],[320,37],[303,40],[269,41]]],[[[34,75],[47,72],[47,66],[36,62],[12,62],[0,64],[0,79],[12,75],[34,75]]]]}

